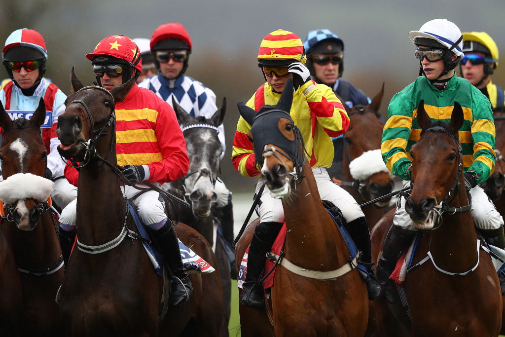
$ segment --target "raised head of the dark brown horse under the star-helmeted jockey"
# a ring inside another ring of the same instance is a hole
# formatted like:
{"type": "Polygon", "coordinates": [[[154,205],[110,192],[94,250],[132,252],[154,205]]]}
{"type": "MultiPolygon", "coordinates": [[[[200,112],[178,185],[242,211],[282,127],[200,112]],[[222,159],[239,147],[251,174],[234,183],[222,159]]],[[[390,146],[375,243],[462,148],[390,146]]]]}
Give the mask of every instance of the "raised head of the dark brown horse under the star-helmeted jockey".
{"type": "MultiPolygon", "coordinates": [[[[65,101],[65,112],[58,118],[56,133],[61,145],[58,152],[65,158],[89,160],[89,147],[115,122],[114,105],[125,99],[135,80],[119,85],[110,92],[99,86],[83,86],[72,68],[73,93],[65,101]]],[[[114,136],[112,132],[112,136],[114,136]]]]}

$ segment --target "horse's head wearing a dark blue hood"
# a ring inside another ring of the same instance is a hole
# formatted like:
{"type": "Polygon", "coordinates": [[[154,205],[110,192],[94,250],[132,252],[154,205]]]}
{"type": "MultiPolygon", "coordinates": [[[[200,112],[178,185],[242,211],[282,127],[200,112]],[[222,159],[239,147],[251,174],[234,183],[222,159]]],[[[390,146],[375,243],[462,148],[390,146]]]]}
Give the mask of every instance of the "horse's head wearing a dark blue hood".
{"type": "Polygon", "coordinates": [[[285,198],[291,191],[291,180],[301,178],[305,155],[301,134],[289,115],[293,101],[293,82],[286,81],[279,102],[265,105],[258,112],[238,103],[238,110],[251,125],[247,137],[252,142],[261,178],[274,198],[285,198]]]}

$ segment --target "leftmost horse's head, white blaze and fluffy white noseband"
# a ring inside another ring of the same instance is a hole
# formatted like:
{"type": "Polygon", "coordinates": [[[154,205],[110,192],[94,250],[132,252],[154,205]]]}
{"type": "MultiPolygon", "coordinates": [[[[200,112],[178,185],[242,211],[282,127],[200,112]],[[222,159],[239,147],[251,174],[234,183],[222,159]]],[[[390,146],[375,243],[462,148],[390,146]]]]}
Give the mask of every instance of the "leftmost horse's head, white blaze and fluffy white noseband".
{"type": "MultiPolygon", "coordinates": [[[[0,107],[0,126],[4,131],[0,160],[5,179],[0,183],[0,200],[8,205],[7,219],[19,229],[30,231],[47,209],[53,188],[53,182],[44,178],[47,151],[40,126],[45,120],[45,104],[40,99],[30,120],[13,121],[1,103],[0,107]]],[[[0,208],[3,214],[3,205],[0,208]]]]}

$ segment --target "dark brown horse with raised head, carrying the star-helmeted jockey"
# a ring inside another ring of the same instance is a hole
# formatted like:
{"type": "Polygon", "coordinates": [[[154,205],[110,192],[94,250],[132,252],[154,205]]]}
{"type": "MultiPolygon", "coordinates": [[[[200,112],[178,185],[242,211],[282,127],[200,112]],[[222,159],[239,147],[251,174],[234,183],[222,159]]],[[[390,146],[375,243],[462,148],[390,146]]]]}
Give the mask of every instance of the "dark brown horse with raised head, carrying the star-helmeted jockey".
{"type": "MultiPolygon", "coordinates": [[[[110,92],[98,86],[84,87],[72,70],[73,93],[58,119],[60,154],[78,159],[82,166],[77,199],[79,242],[94,248],[117,244],[110,250],[100,247],[99,254],[74,250],[59,299],[65,332],[72,336],[218,336],[223,298],[219,274],[191,274],[190,300],[170,307],[159,322],[161,299],[168,301],[169,292],[163,290],[163,279],[156,274],[141,239],[125,237],[135,231],[135,225],[127,216],[118,175],[106,161],[117,165],[115,102],[123,101],[134,85],[132,78],[110,92]]],[[[175,228],[182,242],[216,264],[211,247],[200,234],[182,223],[175,228]]]]}

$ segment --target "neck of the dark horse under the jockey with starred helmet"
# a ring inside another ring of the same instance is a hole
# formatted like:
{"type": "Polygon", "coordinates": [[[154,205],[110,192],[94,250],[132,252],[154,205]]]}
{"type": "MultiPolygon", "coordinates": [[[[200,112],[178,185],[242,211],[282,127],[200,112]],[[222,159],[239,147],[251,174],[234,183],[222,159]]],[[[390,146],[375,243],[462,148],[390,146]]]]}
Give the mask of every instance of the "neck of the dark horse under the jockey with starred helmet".
{"type": "MultiPolygon", "coordinates": [[[[96,153],[112,165],[117,165],[116,141],[100,139],[96,153]]],[[[98,159],[79,169],[77,198],[77,228],[81,242],[100,245],[108,242],[122,230],[126,214],[119,177],[98,159]]]]}

